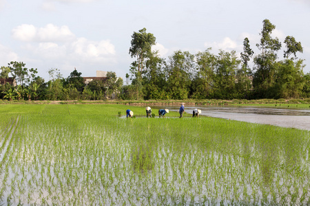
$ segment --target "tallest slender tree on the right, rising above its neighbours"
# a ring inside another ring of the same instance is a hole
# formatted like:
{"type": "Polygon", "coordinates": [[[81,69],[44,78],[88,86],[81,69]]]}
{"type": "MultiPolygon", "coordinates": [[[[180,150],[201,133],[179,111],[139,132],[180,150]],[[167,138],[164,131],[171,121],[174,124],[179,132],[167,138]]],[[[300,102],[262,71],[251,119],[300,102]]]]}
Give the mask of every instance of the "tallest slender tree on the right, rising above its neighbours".
{"type": "Polygon", "coordinates": [[[272,38],[271,33],[276,26],[268,19],[263,21],[262,32],[260,32],[260,43],[256,44],[261,53],[254,58],[256,72],[254,73],[254,87],[260,98],[268,97],[268,90],[276,80],[277,52],[281,48],[278,38],[272,38]]]}

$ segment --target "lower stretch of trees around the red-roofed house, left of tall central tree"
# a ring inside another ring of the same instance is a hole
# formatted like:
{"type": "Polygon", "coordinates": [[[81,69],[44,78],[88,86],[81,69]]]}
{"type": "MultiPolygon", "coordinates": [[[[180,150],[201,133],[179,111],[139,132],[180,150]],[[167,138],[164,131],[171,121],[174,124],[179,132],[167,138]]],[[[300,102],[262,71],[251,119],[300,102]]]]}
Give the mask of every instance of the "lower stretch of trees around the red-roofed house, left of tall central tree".
{"type": "Polygon", "coordinates": [[[85,84],[82,73],[74,69],[63,78],[59,69],[49,69],[50,80],[36,76],[37,69],[28,69],[23,62],[10,62],[1,67],[0,78],[8,73],[17,80],[17,86],[9,83],[0,86],[0,98],[8,100],[106,100],[121,98],[123,79],[113,71],[107,72],[105,80],[92,80],[85,84]]]}

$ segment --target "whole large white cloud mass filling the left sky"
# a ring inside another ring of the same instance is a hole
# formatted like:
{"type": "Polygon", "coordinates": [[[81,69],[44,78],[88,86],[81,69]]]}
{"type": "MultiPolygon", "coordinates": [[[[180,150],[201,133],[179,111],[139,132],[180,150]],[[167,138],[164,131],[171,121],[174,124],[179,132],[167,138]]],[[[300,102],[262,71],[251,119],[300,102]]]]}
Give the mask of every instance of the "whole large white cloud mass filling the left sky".
{"type": "Polygon", "coordinates": [[[26,56],[31,56],[31,62],[42,65],[62,69],[81,66],[87,72],[90,65],[116,64],[116,50],[110,40],[77,38],[67,26],[20,25],[12,30],[12,36],[25,42],[21,48],[26,56]]]}

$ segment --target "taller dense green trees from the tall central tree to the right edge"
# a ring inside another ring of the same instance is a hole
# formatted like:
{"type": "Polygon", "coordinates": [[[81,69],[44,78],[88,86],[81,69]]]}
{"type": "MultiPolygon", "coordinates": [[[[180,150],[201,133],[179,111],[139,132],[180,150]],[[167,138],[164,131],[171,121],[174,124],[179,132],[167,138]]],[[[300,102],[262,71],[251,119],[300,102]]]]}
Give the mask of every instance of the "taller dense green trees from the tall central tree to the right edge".
{"type": "Polygon", "coordinates": [[[152,51],[156,44],[146,29],[134,32],[130,55],[132,85],[129,99],[259,99],[309,98],[310,73],[304,74],[304,60],[297,57],[302,45],[293,36],[285,38],[283,60],[278,52],[282,47],[271,33],[276,26],[268,19],[262,21],[260,42],[254,54],[249,39],[243,41],[240,57],[235,51],[212,54],[190,54],[176,51],[166,60],[152,51]],[[250,63],[252,62],[252,63],[250,63]]]}

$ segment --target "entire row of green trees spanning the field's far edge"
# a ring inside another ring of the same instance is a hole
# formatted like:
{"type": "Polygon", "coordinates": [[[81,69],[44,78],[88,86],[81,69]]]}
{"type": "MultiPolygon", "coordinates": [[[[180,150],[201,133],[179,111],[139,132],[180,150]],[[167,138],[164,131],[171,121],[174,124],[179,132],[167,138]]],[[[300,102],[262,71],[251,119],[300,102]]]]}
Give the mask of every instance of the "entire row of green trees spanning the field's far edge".
{"type": "Polygon", "coordinates": [[[132,34],[129,54],[135,58],[130,65],[130,85],[116,73],[109,71],[105,80],[92,80],[85,84],[81,72],[72,71],[63,78],[59,69],[48,71],[50,80],[37,76],[37,69],[28,69],[23,62],[10,62],[1,67],[0,78],[8,74],[17,80],[17,86],[0,86],[0,98],[8,100],[185,100],[192,99],[260,99],[309,98],[310,73],[304,74],[304,60],[297,57],[302,45],[293,36],[284,41],[282,48],[271,33],[276,26],[268,19],[262,21],[259,50],[254,54],[249,39],[243,41],[240,57],[236,51],[211,48],[197,54],[178,50],[167,59],[152,50],[156,44],[154,34],[143,28],[132,34]]]}

